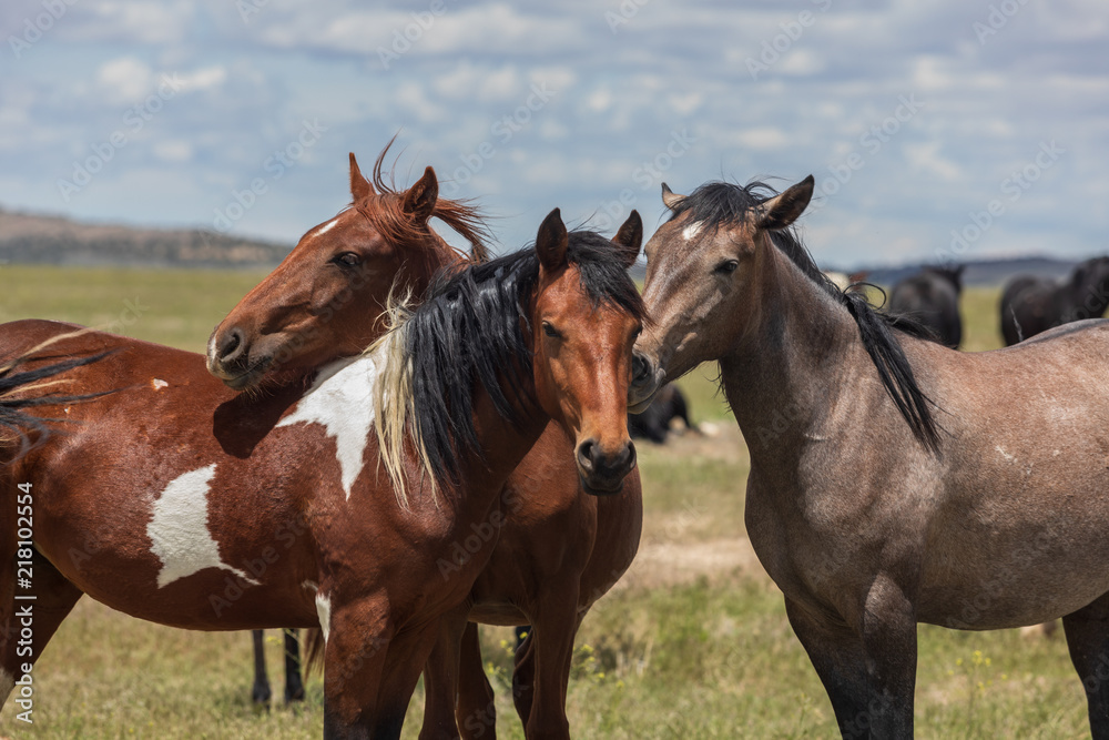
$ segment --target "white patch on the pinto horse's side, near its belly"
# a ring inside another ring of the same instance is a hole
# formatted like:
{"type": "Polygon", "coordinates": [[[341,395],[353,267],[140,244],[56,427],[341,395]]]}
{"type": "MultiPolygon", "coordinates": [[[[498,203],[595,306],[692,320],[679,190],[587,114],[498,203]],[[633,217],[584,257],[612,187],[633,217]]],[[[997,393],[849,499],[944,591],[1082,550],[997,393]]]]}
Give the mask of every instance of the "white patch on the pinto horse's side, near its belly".
{"type": "Polygon", "coordinates": [[[214,475],[215,463],[183,473],[171,480],[154,501],[154,516],[146,525],[146,536],[153,543],[151,551],[162,561],[159,588],[205,568],[230,570],[246,582],[258,585],[220,559],[220,546],[207,528],[207,493],[214,475]]]}

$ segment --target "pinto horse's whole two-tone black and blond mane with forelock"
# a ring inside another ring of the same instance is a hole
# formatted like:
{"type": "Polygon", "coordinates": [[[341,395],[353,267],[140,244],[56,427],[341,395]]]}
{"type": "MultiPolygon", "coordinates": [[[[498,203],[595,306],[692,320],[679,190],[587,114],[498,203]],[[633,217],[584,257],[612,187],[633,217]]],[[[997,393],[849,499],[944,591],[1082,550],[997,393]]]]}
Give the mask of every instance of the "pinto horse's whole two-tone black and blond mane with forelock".
{"type": "MultiPolygon", "coordinates": [[[[594,306],[614,305],[642,321],[642,298],[611,242],[571,232],[567,259],[594,306]]],[[[464,456],[484,459],[472,415],[479,385],[513,425],[535,409],[530,312],[538,281],[530,247],[446,274],[423,305],[406,316],[397,312],[393,330],[372,348],[383,364],[375,426],[401,506],[408,435],[434,493],[457,481],[464,456]]]]}

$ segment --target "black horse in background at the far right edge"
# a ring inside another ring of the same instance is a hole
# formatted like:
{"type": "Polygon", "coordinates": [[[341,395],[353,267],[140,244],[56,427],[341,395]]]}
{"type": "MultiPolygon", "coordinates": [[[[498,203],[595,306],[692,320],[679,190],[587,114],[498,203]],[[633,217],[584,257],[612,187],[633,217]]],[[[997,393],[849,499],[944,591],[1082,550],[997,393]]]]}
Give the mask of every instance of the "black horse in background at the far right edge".
{"type": "Polygon", "coordinates": [[[1005,346],[1052,326],[1098,318],[1109,307],[1109,256],[1080,263],[1061,284],[1049,277],[1020,275],[1001,292],[1005,346]]]}

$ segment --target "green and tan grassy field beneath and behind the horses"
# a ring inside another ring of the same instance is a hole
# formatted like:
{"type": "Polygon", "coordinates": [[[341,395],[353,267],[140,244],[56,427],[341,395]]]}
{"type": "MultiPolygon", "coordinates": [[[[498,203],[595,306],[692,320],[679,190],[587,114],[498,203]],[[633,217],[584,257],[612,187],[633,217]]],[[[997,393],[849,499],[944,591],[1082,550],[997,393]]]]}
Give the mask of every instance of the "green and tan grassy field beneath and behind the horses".
{"type": "MultiPolygon", "coordinates": [[[[34,316],[112,325],[200,351],[211,327],[260,277],[0,267],[0,321],[34,316]]],[[[994,290],[967,292],[968,348],[998,345],[996,301],[994,290]]],[[[746,545],[747,457],[715,397],[713,374],[699,371],[682,385],[695,418],[715,422],[719,434],[640,447],[647,508],[641,556],[579,636],[568,698],[574,737],[838,737],[781,596],[746,545]]],[[[522,738],[507,690],[510,632],[482,635],[487,671],[499,692],[499,737],[522,738]]],[[[1060,637],[922,627],[919,638],[919,737],[1088,736],[1082,690],[1060,637]]],[[[278,666],[276,632],[268,651],[271,667],[278,666]]],[[[250,704],[250,656],[245,633],[173,630],[84,599],[35,667],[33,728],[17,723],[8,707],[0,713],[0,736],[318,736],[319,678],[309,681],[302,708],[258,712],[250,704]]],[[[281,678],[273,680],[279,695],[281,678]]],[[[421,701],[417,690],[406,738],[418,733],[421,701]]]]}

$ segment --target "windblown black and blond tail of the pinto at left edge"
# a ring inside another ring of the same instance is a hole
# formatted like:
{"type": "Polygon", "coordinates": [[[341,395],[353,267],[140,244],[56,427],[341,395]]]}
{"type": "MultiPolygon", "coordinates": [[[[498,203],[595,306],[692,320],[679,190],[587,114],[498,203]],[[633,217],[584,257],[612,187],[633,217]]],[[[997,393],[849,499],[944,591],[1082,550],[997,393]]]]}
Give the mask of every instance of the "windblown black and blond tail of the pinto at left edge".
{"type": "Polygon", "coordinates": [[[49,425],[51,423],[63,423],[67,420],[41,418],[27,413],[27,409],[34,406],[80,403],[82,401],[99,398],[109,393],[114,393],[114,391],[83,395],[60,395],[57,393],[44,393],[39,396],[19,395],[18,397],[12,397],[12,395],[33,389],[39,384],[41,384],[40,387],[55,386],[60,382],[51,381],[50,378],[67,373],[74,367],[91,365],[114,353],[115,351],[111,349],[87,357],[73,357],[34,369],[20,372],[19,368],[30,359],[30,357],[23,356],[0,367],[0,444],[14,442],[16,439],[19,440],[19,452],[10,459],[19,458],[45,442],[50,436],[49,425]]]}

